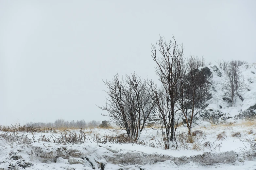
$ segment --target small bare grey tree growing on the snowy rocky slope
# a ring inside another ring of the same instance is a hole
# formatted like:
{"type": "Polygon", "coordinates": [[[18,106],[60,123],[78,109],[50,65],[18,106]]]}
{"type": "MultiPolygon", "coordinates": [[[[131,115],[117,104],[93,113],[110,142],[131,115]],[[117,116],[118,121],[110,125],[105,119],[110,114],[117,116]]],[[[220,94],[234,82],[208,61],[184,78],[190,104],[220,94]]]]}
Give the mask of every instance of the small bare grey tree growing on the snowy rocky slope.
{"type": "Polygon", "coordinates": [[[230,98],[232,106],[235,106],[236,97],[239,92],[245,91],[248,87],[243,74],[239,70],[239,66],[245,63],[243,61],[231,60],[227,63],[224,70],[225,78],[223,83],[221,83],[222,91],[225,97],[230,98]]]}

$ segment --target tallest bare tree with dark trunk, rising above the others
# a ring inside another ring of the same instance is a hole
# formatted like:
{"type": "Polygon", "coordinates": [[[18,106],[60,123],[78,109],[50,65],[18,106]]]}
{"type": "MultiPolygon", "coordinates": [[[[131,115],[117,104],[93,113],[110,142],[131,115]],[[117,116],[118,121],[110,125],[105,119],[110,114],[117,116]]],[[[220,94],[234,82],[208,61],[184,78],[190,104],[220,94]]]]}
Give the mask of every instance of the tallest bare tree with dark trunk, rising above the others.
{"type": "Polygon", "coordinates": [[[164,92],[168,94],[168,100],[171,113],[171,135],[170,140],[174,140],[174,118],[175,111],[177,111],[177,102],[180,98],[180,77],[183,74],[182,67],[183,61],[183,46],[176,43],[175,38],[173,41],[166,42],[163,37],[160,36],[156,45],[152,44],[152,59],[156,62],[156,74],[159,76],[159,80],[162,83],[164,92]],[[157,50],[158,46],[158,50],[157,50]],[[158,52],[160,57],[157,57],[158,52]]]}

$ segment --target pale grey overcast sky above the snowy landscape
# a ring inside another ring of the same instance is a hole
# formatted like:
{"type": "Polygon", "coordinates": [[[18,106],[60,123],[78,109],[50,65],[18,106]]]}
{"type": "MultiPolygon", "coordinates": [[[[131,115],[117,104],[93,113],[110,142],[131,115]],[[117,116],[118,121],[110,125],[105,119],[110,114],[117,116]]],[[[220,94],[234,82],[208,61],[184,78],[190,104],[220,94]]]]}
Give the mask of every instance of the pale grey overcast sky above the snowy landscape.
{"type": "Polygon", "coordinates": [[[256,62],[256,1],[0,0],[0,124],[107,120],[102,79],[156,79],[151,43],[256,62]]]}

